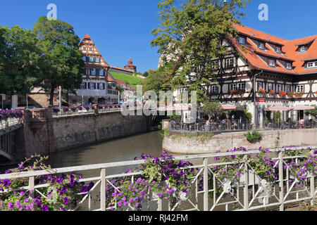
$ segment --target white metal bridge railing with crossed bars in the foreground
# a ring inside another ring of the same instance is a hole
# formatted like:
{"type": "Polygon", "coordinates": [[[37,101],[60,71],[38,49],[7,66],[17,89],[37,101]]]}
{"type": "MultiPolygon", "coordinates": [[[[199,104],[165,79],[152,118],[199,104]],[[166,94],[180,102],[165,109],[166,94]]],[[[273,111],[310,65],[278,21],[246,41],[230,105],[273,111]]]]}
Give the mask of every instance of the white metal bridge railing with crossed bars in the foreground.
{"type": "MultiPolygon", "coordinates": [[[[313,150],[316,150],[317,146],[306,146],[306,147],[293,147],[293,148],[277,148],[267,151],[267,154],[272,155],[272,160],[274,160],[274,167],[278,170],[277,180],[273,182],[268,182],[263,177],[260,176],[259,172],[252,167],[247,160],[235,162],[218,162],[214,161],[214,158],[219,157],[230,157],[232,155],[244,156],[244,158],[249,155],[256,155],[261,153],[260,150],[247,150],[247,151],[237,151],[235,153],[212,153],[204,155],[188,155],[188,156],[178,156],[175,160],[189,160],[194,163],[193,166],[183,167],[182,170],[187,169],[197,169],[199,171],[197,174],[193,174],[193,179],[191,181],[191,191],[189,195],[183,196],[178,200],[177,203],[170,203],[168,201],[169,197],[160,198],[153,196],[147,198],[144,201],[141,210],[268,210],[276,209],[284,210],[286,205],[300,203],[301,201],[313,201],[316,198],[316,173],[307,174],[305,178],[298,179],[294,176],[294,171],[290,165],[288,165],[287,160],[300,160],[303,155],[292,155],[287,156],[284,153],[294,150],[306,150],[311,152],[311,155],[315,154],[313,150]],[[225,166],[227,167],[240,167],[243,168],[244,172],[240,179],[238,179],[235,184],[226,182],[220,179],[219,174],[214,171],[215,167],[225,166]],[[202,180],[201,180],[202,177],[202,180]],[[290,183],[292,181],[292,183],[290,183]],[[203,187],[199,187],[203,184],[203,187]],[[216,186],[220,184],[222,188],[216,189],[216,186]],[[270,188],[269,188],[270,187],[270,188]],[[271,191],[269,191],[270,189],[271,191]],[[152,204],[152,207],[151,204],[152,204]],[[154,205],[154,206],[153,206],[154,205]]],[[[316,155],[314,155],[316,158],[316,155]]],[[[126,162],[111,162],[97,165],[85,165],[77,167],[64,167],[58,169],[49,170],[39,170],[35,172],[20,172],[18,174],[0,174],[0,179],[19,179],[27,178],[29,181],[28,186],[23,186],[20,188],[15,188],[12,190],[4,190],[2,193],[7,193],[10,191],[37,191],[39,188],[49,187],[49,184],[35,185],[35,179],[37,176],[46,174],[62,174],[70,172],[84,172],[84,171],[98,171],[97,176],[89,176],[85,179],[80,179],[83,182],[94,181],[94,186],[92,189],[86,193],[79,193],[82,195],[82,200],[74,207],[73,210],[78,210],[80,206],[86,202],[86,207],[84,210],[94,210],[94,211],[105,211],[105,210],[135,210],[131,205],[126,205],[123,208],[118,207],[118,203],[113,205],[113,208],[106,207],[106,185],[111,184],[113,188],[117,190],[122,190],[123,187],[114,186],[111,183],[112,179],[118,179],[122,177],[128,177],[132,182],[135,181],[137,176],[143,172],[130,172],[130,173],[116,173],[110,172],[113,168],[123,169],[127,167],[136,167],[145,162],[145,160],[135,160],[126,162]],[[97,205],[91,203],[92,195],[99,196],[100,203],[98,201],[97,205]],[[94,208],[93,208],[94,207],[94,208]]],[[[37,191],[39,192],[39,191],[37,191]]],[[[1,191],[0,191],[1,194],[1,191]]]]}

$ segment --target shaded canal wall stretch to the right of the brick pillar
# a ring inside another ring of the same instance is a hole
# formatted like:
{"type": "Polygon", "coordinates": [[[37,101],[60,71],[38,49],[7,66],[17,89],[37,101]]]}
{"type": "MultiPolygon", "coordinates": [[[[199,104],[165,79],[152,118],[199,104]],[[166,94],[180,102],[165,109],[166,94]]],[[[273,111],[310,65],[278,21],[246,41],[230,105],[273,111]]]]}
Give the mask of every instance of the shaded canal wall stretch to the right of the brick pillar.
{"type": "Polygon", "coordinates": [[[146,116],[123,116],[120,112],[54,117],[56,150],[116,139],[149,131],[146,116]]]}

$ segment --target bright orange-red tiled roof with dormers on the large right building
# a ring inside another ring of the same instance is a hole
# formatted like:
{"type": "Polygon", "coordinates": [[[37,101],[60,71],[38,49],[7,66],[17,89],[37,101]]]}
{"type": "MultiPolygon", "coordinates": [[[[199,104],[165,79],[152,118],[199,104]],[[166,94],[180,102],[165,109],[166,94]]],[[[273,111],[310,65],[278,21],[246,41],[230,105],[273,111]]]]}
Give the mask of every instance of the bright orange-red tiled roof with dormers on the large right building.
{"type": "Polygon", "coordinates": [[[247,63],[252,68],[261,69],[261,70],[270,70],[274,72],[285,72],[289,74],[299,75],[308,72],[317,72],[317,69],[305,70],[304,60],[313,60],[317,58],[317,35],[312,37],[305,37],[302,39],[296,40],[287,40],[280,37],[275,37],[271,34],[266,34],[258,30],[254,30],[249,27],[244,27],[242,25],[234,25],[237,31],[240,34],[243,34],[247,37],[247,44],[242,47],[236,39],[230,37],[228,38],[232,44],[237,48],[240,53],[244,56],[244,59],[247,60],[247,63]],[[259,49],[252,39],[261,40],[265,44],[265,51],[259,49]],[[309,49],[306,53],[299,53],[297,51],[298,46],[301,44],[310,44],[309,49]],[[271,47],[270,44],[276,46],[281,46],[281,53],[276,53],[275,49],[271,47]],[[244,49],[244,50],[243,50],[244,49]],[[282,66],[278,60],[276,60],[276,67],[270,67],[261,56],[267,56],[270,58],[275,58],[279,60],[285,60],[292,62],[293,70],[287,70],[282,66]]]}

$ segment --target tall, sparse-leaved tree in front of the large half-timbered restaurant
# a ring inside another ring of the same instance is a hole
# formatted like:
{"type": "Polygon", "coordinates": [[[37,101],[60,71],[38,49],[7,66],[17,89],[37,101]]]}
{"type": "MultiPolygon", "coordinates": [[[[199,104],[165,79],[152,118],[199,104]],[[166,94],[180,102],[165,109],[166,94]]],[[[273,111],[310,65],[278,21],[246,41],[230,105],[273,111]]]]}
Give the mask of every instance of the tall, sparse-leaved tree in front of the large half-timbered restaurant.
{"type": "Polygon", "coordinates": [[[159,2],[161,23],[151,32],[156,37],[151,46],[159,47],[163,65],[170,61],[175,65],[167,80],[172,89],[197,91],[197,103],[201,103],[207,99],[204,86],[216,82],[213,60],[237,53],[223,46],[223,41],[237,36],[232,24],[240,23],[249,0],[228,4],[222,0],[183,0],[180,6],[175,2],[159,2]]]}

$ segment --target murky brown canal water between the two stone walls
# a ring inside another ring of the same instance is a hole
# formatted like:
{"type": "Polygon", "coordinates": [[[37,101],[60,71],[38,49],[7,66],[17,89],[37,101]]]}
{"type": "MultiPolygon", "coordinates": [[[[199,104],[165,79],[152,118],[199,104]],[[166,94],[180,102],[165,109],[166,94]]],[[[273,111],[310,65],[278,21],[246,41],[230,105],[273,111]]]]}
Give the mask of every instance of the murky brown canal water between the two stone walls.
{"type": "Polygon", "coordinates": [[[134,160],[142,153],[158,157],[162,151],[161,131],[64,150],[49,155],[52,168],[134,160]]]}

